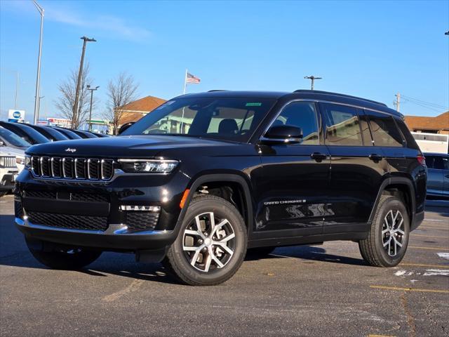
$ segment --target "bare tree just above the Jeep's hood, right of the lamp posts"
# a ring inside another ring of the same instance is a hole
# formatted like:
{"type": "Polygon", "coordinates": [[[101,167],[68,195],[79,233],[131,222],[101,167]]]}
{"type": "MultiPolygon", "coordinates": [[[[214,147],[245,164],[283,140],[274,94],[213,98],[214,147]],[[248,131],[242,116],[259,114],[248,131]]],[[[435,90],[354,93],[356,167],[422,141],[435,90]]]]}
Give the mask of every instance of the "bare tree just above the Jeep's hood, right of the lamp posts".
{"type": "Polygon", "coordinates": [[[107,113],[106,119],[112,124],[114,135],[117,134],[123,110],[121,107],[135,100],[138,84],[135,83],[134,77],[121,72],[115,79],[107,84],[107,113]]]}

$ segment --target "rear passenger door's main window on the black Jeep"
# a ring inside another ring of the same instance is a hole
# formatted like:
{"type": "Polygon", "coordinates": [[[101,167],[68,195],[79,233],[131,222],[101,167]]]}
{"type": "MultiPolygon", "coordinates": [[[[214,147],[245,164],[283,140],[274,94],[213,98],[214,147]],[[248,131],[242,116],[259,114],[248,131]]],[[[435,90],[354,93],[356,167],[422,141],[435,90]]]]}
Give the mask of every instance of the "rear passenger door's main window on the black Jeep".
{"type": "Polygon", "coordinates": [[[323,103],[321,106],[327,118],[326,144],[363,145],[356,108],[328,103],[323,103]]]}

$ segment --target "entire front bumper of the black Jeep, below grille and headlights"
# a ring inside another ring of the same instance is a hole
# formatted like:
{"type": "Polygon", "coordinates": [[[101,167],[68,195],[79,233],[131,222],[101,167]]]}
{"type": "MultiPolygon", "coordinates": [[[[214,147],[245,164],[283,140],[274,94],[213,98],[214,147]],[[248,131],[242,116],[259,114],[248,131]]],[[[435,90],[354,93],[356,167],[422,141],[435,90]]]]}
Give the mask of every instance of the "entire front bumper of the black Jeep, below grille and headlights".
{"type": "Polygon", "coordinates": [[[43,242],[105,251],[162,249],[176,239],[187,183],[184,175],[58,181],[36,179],[25,170],[15,185],[15,224],[29,239],[43,242]]]}

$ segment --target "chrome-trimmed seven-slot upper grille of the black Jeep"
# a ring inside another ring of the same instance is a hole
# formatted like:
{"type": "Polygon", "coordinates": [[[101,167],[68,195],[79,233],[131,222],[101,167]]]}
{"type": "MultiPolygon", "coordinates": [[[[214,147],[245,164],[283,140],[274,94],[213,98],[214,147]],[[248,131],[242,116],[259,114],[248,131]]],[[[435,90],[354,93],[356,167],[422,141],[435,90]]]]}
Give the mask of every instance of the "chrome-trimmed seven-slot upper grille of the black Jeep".
{"type": "Polygon", "coordinates": [[[31,169],[34,176],[42,178],[110,180],[114,160],[32,156],[31,169]]]}

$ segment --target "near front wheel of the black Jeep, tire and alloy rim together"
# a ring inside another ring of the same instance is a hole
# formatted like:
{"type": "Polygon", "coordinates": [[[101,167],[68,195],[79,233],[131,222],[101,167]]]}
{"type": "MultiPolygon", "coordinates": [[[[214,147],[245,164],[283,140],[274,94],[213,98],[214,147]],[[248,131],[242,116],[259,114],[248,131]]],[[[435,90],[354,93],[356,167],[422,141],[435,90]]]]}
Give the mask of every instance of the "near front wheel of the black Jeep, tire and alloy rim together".
{"type": "Polygon", "coordinates": [[[213,286],[230,279],[243,263],[247,234],[237,209],[213,195],[196,197],[163,264],[181,282],[213,286]]]}

